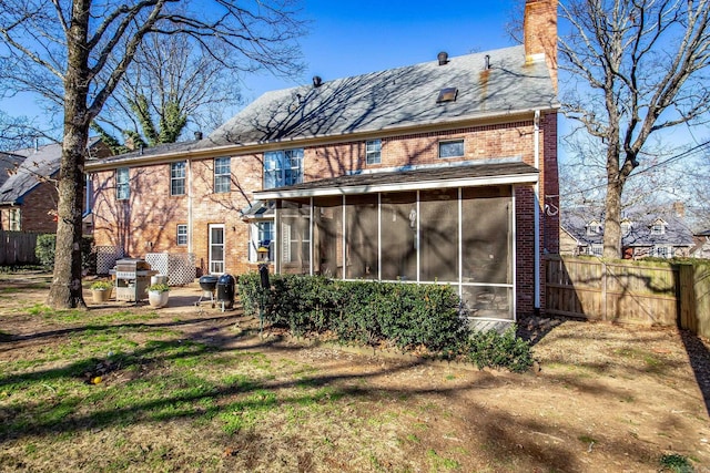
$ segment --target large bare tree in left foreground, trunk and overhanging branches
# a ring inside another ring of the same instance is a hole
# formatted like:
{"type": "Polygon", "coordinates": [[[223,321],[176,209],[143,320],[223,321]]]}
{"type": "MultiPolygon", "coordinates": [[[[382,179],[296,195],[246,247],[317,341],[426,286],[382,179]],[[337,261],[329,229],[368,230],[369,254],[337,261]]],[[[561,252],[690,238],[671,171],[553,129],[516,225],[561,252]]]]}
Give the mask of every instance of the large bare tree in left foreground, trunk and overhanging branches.
{"type": "Polygon", "coordinates": [[[291,0],[0,0],[0,83],[63,107],[54,277],[48,305],[85,307],[81,291],[83,166],[89,130],[154,35],[216,41],[212,58],[233,71],[291,72],[303,24],[291,0]]]}

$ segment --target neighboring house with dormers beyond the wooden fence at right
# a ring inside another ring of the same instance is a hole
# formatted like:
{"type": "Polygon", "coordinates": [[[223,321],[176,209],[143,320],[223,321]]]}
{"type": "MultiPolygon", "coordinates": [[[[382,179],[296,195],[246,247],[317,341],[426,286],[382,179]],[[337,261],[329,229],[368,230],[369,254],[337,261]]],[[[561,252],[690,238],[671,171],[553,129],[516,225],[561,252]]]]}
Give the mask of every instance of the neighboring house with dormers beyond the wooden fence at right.
{"type": "MultiPolygon", "coordinates": [[[[621,250],[625,259],[688,257],[693,245],[680,203],[668,212],[638,207],[623,210],[621,250]]],[[[562,212],[560,253],[602,256],[602,212],[589,208],[562,212]]]]}

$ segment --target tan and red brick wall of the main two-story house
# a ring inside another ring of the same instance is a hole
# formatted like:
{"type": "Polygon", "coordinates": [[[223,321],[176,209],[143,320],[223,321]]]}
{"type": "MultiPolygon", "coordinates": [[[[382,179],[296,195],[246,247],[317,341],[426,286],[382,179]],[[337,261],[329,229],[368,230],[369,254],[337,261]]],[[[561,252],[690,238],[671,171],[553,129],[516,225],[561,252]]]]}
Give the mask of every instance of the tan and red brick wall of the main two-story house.
{"type": "MultiPolygon", "coordinates": [[[[383,138],[382,164],[365,166],[364,140],[342,144],[311,146],[304,150],[304,178],[314,181],[343,175],[349,171],[386,168],[412,164],[440,163],[438,142],[464,138],[465,156],[460,160],[487,160],[521,157],[535,164],[534,122],[485,125],[439,133],[422,133],[383,138]]],[[[556,216],[544,212],[546,199],[558,193],[557,188],[557,115],[544,115],[540,122],[540,175],[539,200],[530,186],[518,186],[516,196],[517,226],[517,306],[518,312],[534,309],[534,207],[540,208],[540,241],[548,248],[557,248],[558,235],[552,227],[556,216]]],[[[221,156],[215,156],[221,157],[221,156]]],[[[448,160],[447,160],[448,161],[448,160]]],[[[243,274],[256,268],[248,263],[250,224],[243,222],[240,210],[253,202],[253,192],[262,188],[262,154],[232,156],[232,192],[213,192],[214,161],[194,160],[187,173],[192,176],[192,249],[196,266],[209,271],[210,225],[223,225],[225,235],[225,270],[243,274]]],[[[176,226],[189,222],[189,197],[170,195],[170,164],[134,167],[130,169],[131,193],[126,200],[116,200],[114,172],[101,172],[92,176],[94,189],[94,238],[97,245],[125,248],[133,257],[146,253],[187,251],[176,246],[176,226]]],[[[186,185],[186,191],[189,186],[186,185]]],[[[542,269],[541,269],[542,270],[542,269]]],[[[541,275],[542,281],[544,275],[541,275]]],[[[544,294],[544,288],[541,288],[544,294]]]]}

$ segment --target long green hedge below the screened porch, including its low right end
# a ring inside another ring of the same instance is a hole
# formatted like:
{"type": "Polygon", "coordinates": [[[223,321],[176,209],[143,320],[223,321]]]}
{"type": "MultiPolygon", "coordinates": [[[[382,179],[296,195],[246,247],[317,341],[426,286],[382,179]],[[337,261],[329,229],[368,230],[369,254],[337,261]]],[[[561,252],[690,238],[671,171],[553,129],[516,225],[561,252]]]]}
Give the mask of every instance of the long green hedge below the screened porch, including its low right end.
{"type": "Polygon", "coordinates": [[[425,347],[430,354],[463,358],[478,366],[525,371],[532,364],[529,343],[515,326],[500,335],[475,332],[459,316],[450,286],[342,281],[322,276],[272,275],[271,290],[257,273],[239,277],[244,312],[295,335],[333,332],[345,342],[390,343],[403,351],[425,347]]]}

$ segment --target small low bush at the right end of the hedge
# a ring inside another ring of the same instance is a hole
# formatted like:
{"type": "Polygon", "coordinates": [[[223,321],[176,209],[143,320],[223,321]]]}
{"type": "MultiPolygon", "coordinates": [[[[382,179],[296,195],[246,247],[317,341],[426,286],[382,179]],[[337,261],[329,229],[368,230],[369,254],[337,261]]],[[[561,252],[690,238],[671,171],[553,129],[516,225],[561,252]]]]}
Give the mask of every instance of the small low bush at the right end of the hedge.
{"type": "Polygon", "coordinates": [[[530,343],[516,336],[510,326],[501,335],[495,330],[474,331],[468,341],[468,359],[480,368],[507,368],[525,372],[532,366],[530,343]]]}

